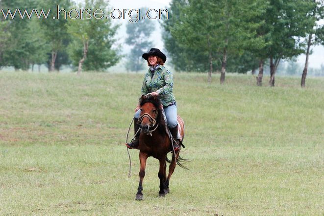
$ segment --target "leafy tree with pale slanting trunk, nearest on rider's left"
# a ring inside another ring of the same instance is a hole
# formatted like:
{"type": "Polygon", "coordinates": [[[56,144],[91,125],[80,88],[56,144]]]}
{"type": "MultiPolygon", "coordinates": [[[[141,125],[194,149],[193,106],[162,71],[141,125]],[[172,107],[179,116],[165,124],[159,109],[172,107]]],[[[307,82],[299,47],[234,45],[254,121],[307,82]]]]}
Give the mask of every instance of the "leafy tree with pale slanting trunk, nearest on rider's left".
{"type": "MultiPolygon", "coordinates": [[[[79,8],[107,7],[104,0],[86,0],[84,5],[79,5],[79,8]]],[[[101,70],[118,62],[118,50],[112,48],[118,27],[112,26],[108,19],[69,20],[68,32],[72,35],[69,53],[73,65],[78,67],[77,74],[81,73],[82,67],[85,70],[101,70]]]]}

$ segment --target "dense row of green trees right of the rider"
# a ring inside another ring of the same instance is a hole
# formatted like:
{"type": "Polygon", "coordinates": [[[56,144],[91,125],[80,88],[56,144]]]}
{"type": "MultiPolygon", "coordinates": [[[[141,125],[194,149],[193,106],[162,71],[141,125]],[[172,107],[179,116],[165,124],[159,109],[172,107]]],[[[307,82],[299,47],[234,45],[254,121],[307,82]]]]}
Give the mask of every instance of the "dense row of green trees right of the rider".
{"type": "MultiPolygon", "coordinates": [[[[280,61],[324,44],[323,0],[173,0],[163,40],[180,71],[248,72],[258,70],[262,85],[269,65],[274,86],[280,61]]],[[[303,70],[301,86],[307,74],[303,70]]]]}

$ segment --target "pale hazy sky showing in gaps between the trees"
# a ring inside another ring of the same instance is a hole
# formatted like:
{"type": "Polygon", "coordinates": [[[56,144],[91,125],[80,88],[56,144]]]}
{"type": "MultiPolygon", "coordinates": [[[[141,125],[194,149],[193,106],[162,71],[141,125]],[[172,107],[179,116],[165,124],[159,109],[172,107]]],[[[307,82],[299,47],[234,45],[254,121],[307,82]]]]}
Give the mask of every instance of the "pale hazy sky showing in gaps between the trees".
{"type": "MultiPolygon", "coordinates": [[[[76,0],[76,1],[82,1],[82,0],[76,0]]],[[[148,7],[149,9],[164,9],[168,8],[171,0],[110,0],[109,1],[110,6],[112,9],[139,9],[141,7],[148,7]]],[[[172,19],[172,17],[170,17],[172,19]]],[[[122,26],[118,30],[118,42],[123,46],[124,53],[127,53],[129,51],[129,48],[127,45],[124,44],[125,37],[126,37],[126,28],[125,24],[127,24],[129,21],[127,19],[125,20],[114,20],[116,24],[122,24],[122,26]]],[[[155,23],[155,31],[152,33],[150,40],[155,41],[156,43],[153,44],[155,48],[160,48],[161,50],[164,50],[163,48],[163,42],[161,39],[161,26],[158,19],[154,20],[153,23],[155,23]]],[[[135,23],[134,23],[135,24],[135,23]]],[[[299,64],[304,64],[305,61],[305,55],[300,55],[298,57],[299,64]]],[[[320,68],[321,64],[324,64],[324,47],[323,46],[317,46],[313,47],[313,53],[309,58],[309,66],[312,68],[320,68]]]]}

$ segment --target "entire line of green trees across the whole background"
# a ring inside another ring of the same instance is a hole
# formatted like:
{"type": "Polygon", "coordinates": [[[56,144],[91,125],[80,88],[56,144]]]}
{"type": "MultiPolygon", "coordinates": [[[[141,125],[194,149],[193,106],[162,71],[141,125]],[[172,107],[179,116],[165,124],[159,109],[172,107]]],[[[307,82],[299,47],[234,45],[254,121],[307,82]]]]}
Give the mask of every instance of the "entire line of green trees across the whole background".
{"type": "MultiPolygon", "coordinates": [[[[118,62],[121,56],[114,36],[119,25],[111,19],[71,19],[76,11],[70,19],[64,19],[64,13],[57,19],[57,5],[66,11],[109,7],[107,0],[85,0],[78,5],[71,0],[1,0],[0,67],[27,70],[45,64],[54,71],[71,65],[81,72],[104,70],[118,62]],[[43,9],[47,19],[29,19],[28,14],[20,18],[36,9],[38,13],[43,9]],[[20,17],[10,19],[9,10],[20,17]]],[[[208,72],[209,82],[212,72],[221,72],[221,83],[226,71],[255,72],[261,86],[267,67],[269,84],[274,86],[280,62],[301,53],[308,59],[311,46],[324,45],[324,27],[318,24],[324,18],[323,0],[172,0],[168,11],[169,19],[161,24],[171,63],[178,71],[208,72]]],[[[133,48],[128,58],[152,45],[150,32],[143,29],[154,28],[143,22],[127,26],[125,43],[133,48]]],[[[303,70],[298,68],[301,86],[308,69],[306,59],[303,70]]],[[[130,59],[127,64],[136,61],[130,59]]]]}

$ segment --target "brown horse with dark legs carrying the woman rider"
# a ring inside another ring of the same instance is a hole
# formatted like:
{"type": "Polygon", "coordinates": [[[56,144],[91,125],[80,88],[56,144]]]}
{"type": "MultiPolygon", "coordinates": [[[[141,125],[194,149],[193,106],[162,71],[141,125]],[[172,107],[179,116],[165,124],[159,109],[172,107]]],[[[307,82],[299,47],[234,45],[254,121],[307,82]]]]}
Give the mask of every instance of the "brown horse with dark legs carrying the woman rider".
{"type": "MultiPolygon", "coordinates": [[[[179,152],[180,150],[173,152],[172,154],[172,161],[169,167],[169,174],[167,177],[166,162],[170,162],[167,159],[167,154],[170,151],[173,151],[170,146],[171,138],[169,136],[169,132],[167,132],[166,122],[163,116],[162,105],[160,100],[156,96],[142,96],[140,100],[141,106],[141,117],[139,119],[140,123],[140,142],[138,149],[140,150],[140,182],[138,185],[136,199],[142,200],[143,199],[143,179],[145,176],[145,167],[146,167],[146,160],[148,157],[154,157],[159,160],[160,162],[160,169],[159,169],[159,179],[160,179],[160,191],[159,196],[165,196],[169,192],[169,181],[171,178],[172,173],[174,172],[175,164],[177,163],[181,167],[183,167],[179,163],[179,152]]],[[[178,119],[178,128],[180,135],[181,135],[181,142],[184,137],[184,122],[177,116],[178,119]]],[[[176,139],[176,138],[174,138],[176,139]]]]}

